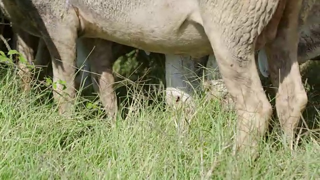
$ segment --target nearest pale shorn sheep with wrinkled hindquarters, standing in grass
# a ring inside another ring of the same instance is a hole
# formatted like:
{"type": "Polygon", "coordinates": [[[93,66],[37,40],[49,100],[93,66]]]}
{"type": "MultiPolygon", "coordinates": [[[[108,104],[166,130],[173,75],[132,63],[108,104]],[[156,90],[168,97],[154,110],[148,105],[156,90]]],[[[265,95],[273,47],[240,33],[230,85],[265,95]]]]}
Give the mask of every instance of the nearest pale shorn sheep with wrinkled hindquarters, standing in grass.
{"type": "Polygon", "coordinates": [[[254,157],[272,112],[254,60],[254,51],[265,45],[270,75],[277,87],[276,109],[284,133],[292,142],[307,102],[297,63],[301,0],[0,2],[12,23],[44,39],[51,54],[53,80],[66,81],[68,96],[60,95],[61,85],[61,93],[54,93],[60,113],[67,111],[74,96],[71,64],[78,36],[194,58],[214,51],[221,76],[235,101],[236,147],[250,150],[254,157]]]}

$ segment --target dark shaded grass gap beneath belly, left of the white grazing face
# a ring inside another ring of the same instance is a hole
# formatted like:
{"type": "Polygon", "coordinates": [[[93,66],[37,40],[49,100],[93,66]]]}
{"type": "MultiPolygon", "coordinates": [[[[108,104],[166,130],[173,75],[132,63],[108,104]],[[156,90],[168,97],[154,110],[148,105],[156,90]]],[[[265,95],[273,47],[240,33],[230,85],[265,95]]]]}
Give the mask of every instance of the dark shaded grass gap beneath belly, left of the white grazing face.
{"type": "MultiPolygon", "coordinates": [[[[165,86],[164,55],[150,53],[149,56],[144,51],[139,50],[131,56],[125,55],[114,63],[113,71],[116,84],[115,92],[117,103],[123,107],[122,117],[128,113],[128,107],[136,100],[145,98],[135,98],[134,91],[139,91],[139,95],[147,98],[145,105],[156,102],[163,102],[161,89],[165,86]]],[[[157,106],[158,107],[158,106],[157,106]]]]}

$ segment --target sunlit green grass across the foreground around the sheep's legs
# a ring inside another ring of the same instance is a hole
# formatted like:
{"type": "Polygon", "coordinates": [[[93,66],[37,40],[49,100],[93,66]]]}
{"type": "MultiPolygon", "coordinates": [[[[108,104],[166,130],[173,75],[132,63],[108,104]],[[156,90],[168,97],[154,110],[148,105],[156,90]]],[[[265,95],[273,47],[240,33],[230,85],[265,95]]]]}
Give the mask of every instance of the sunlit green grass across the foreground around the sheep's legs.
{"type": "Polygon", "coordinates": [[[82,103],[72,118],[60,116],[45,94],[23,92],[14,72],[0,72],[0,179],[320,178],[320,143],[310,130],[293,152],[273,130],[252,162],[231,155],[236,118],[217,101],[197,99],[182,136],[174,123],[182,110],[164,110],[159,99],[150,105],[153,97],[139,90],[129,91],[139,103],[111,126],[82,103]]]}

